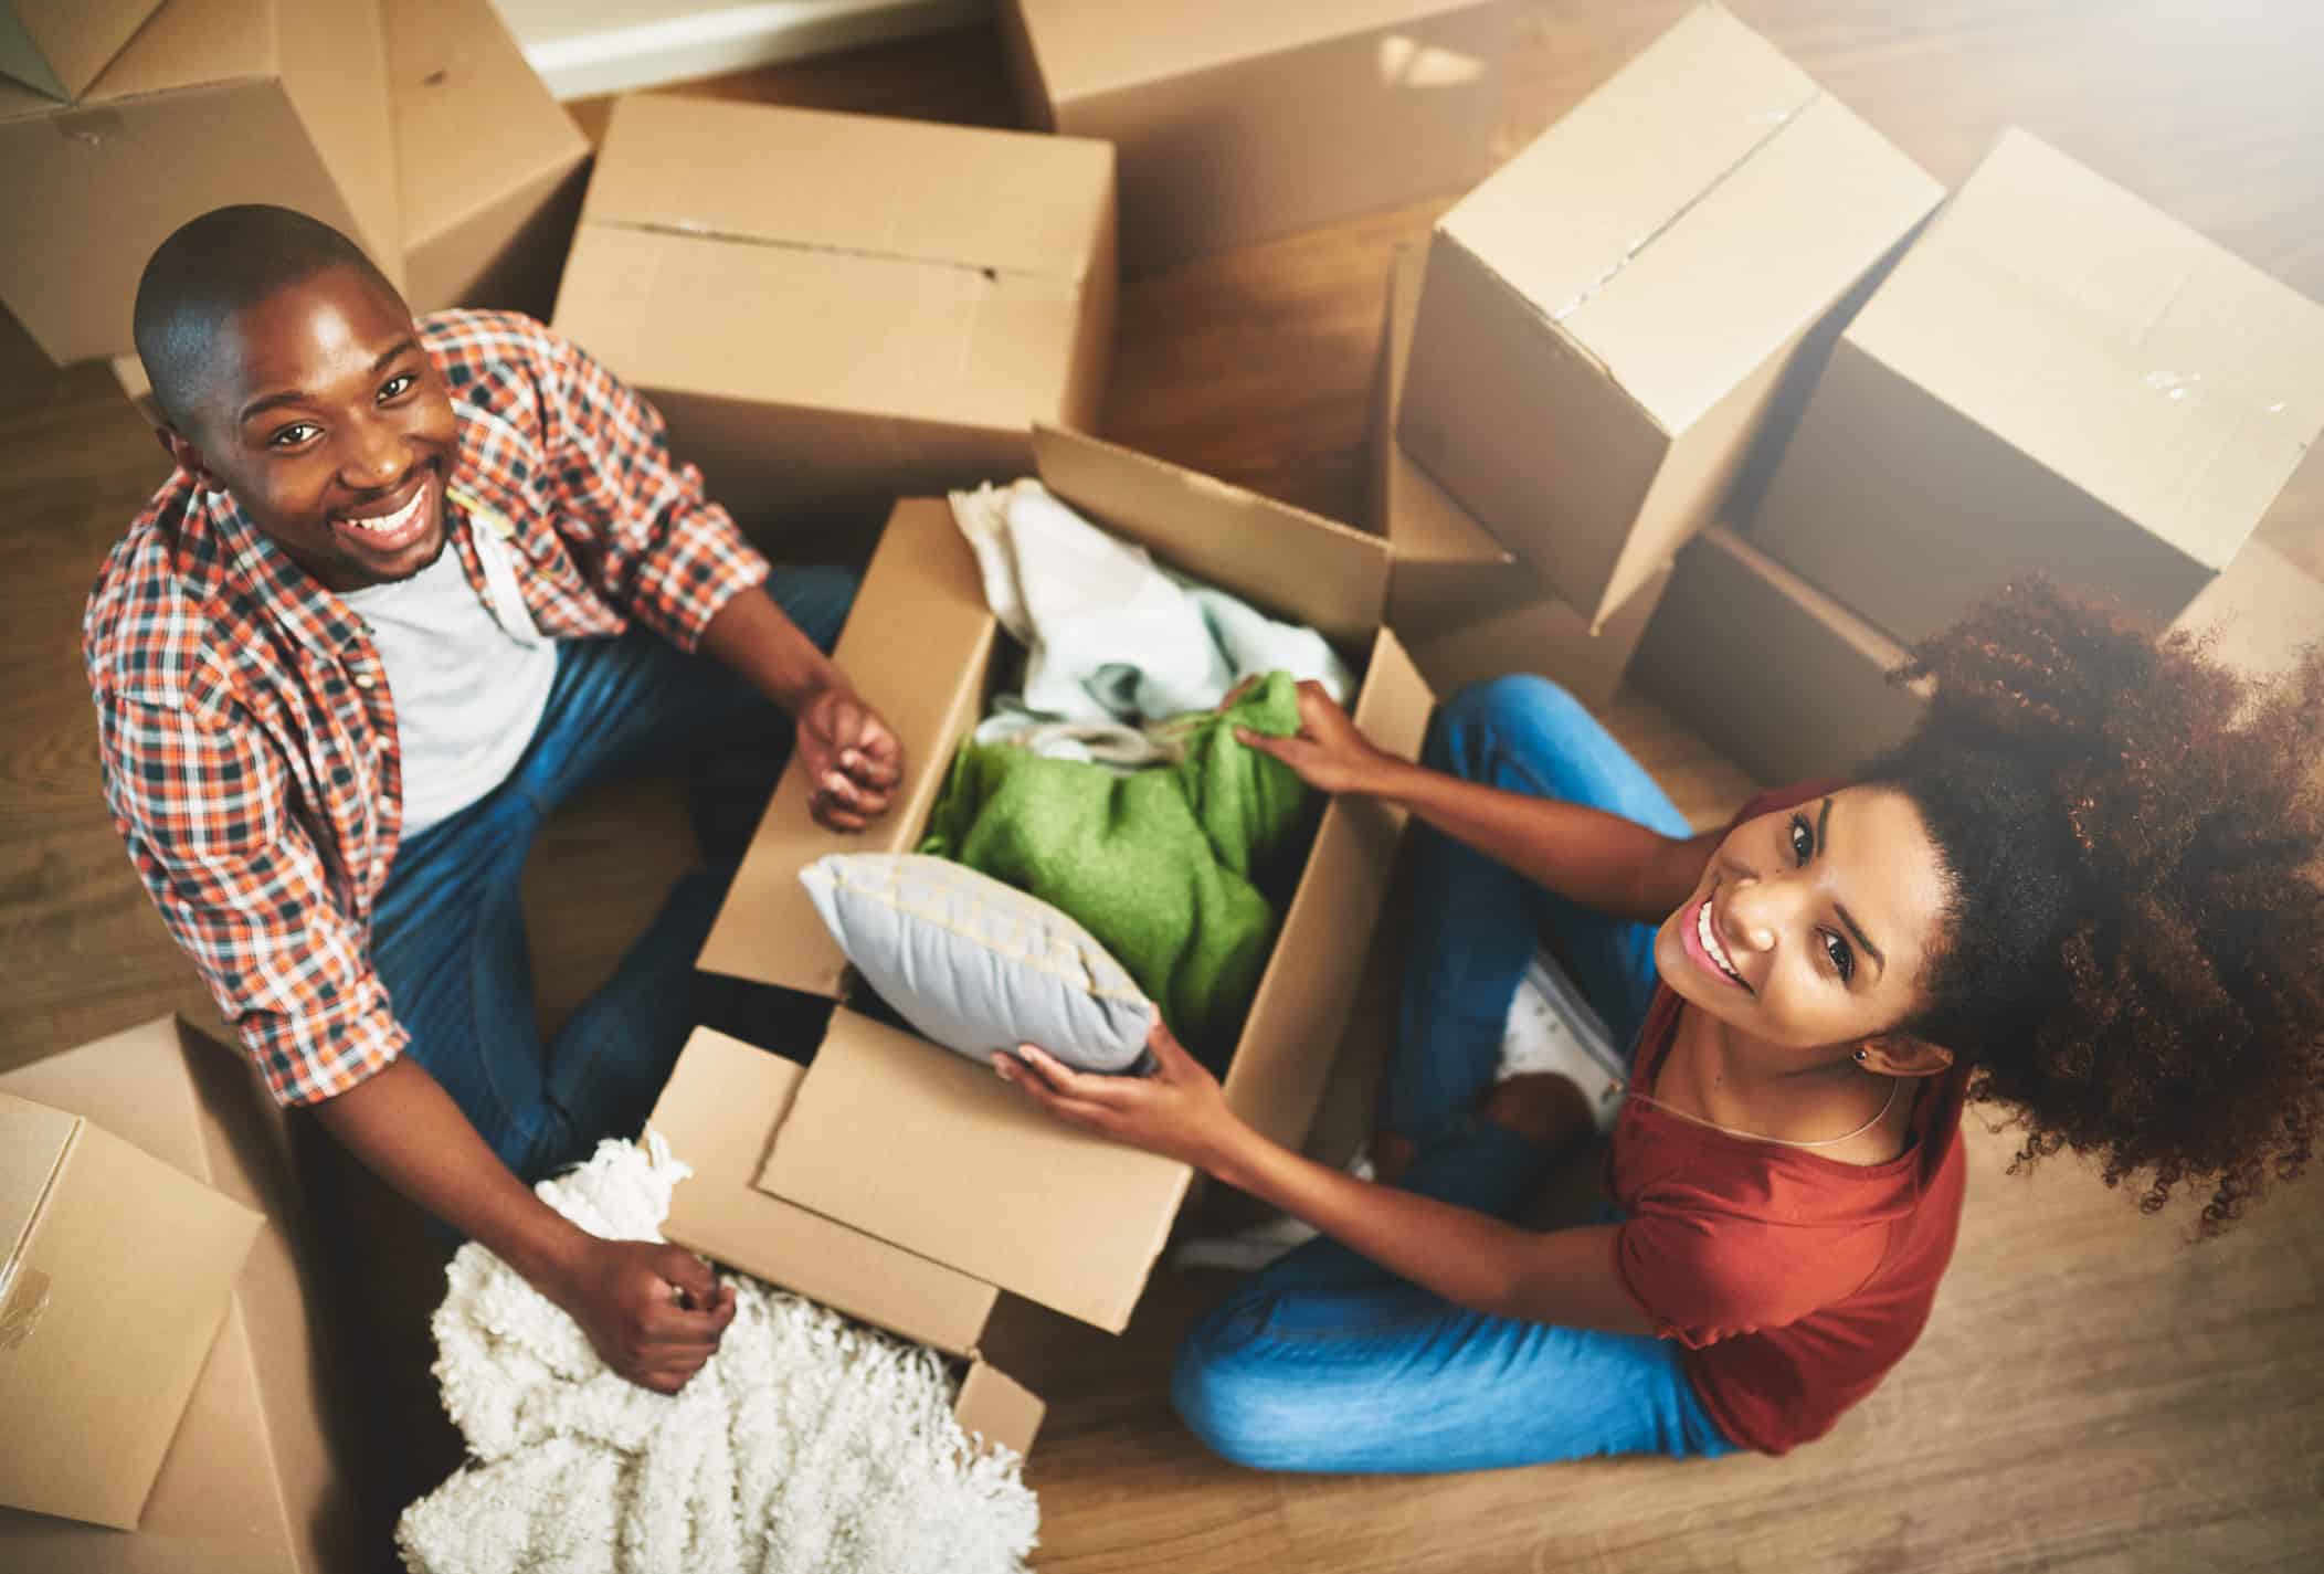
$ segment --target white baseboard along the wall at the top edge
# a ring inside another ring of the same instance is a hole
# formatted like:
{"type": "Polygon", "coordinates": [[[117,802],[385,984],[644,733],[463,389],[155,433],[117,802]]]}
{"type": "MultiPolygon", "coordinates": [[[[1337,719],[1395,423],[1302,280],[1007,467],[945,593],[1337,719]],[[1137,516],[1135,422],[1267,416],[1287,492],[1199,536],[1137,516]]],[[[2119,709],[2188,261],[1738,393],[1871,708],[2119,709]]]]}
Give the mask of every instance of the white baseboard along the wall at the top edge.
{"type": "Polygon", "coordinates": [[[878,44],[992,14],[992,0],[495,0],[558,98],[625,93],[832,49],[878,44]]]}

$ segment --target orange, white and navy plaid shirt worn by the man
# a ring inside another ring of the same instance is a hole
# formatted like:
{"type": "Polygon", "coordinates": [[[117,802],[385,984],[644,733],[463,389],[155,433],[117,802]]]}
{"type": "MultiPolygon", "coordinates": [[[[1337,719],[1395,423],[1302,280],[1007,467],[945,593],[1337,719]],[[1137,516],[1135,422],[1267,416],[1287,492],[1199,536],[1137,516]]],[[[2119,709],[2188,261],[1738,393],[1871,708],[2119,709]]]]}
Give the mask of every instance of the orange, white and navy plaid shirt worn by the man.
{"type": "MultiPolygon", "coordinates": [[[[442,312],[446,535],[516,549],[544,635],[630,621],[693,649],[765,558],[662,418],[525,316],[442,312]]],[[[353,1088],[407,1044],[370,958],[402,825],[395,702],[370,632],[223,493],[172,474],[105,560],[81,623],[105,800],[163,921],[286,1104],[353,1088]]]]}

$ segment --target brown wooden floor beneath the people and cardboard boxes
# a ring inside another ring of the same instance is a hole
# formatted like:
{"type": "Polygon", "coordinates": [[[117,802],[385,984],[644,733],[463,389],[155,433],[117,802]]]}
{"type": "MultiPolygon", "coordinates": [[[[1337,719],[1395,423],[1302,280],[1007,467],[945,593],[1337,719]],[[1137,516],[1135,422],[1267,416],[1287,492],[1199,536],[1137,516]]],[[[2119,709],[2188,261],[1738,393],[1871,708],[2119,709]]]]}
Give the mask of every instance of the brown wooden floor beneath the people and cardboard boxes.
{"type": "MultiPolygon", "coordinates": [[[[1680,9],[1527,5],[1501,149],[1680,9]]],[[[2020,123],[2324,300],[2324,7],[2312,0],[1734,9],[1945,181],[2020,123]]],[[[1009,119],[985,33],[688,91],[1009,119]]],[[[583,107],[583,119],[597,126],[602,112],[583,107]]],[[[1387,253],[1422,237],[1439,207],[1129,284],[1109,435],[1353,516],[1387,253]]],[[[0,1065],[202,1007],[98,800],[79,674],[81,598],[160,477],[102,370],[51,372],[0,328],[0,1065]]],[[[2271,539],[2324,572],[2324,463],[2294,481],[2271,539]]],[[[1750,786],[1643,702],[1624,697],[1615,725],[1699,821],[1750,786]]],[[[669,795],[651,784],[604,793],[551,830],[528,893],[551,1016],[604,974],[683,858],[669,795]]],[[[1157,1274],[1120,1339],[1009,1307],[990,1353],[1053,1404],[1030,1467],[1039,1562],[1078,1574],[2324,1567],[2324,1188],[2287,1190],[2229,1242],[2189,1249],[2185,1218],[2145,1221],[2068,1162],[2008,1179],[2010,1139],[1975,1114],[1968,1146],[1968,1221],[1927,1337],[1831,1439],[1787,1460],[1257,1476],[1206,1458],[1164,1402],[1171,1342],[1220,1281],[1157,1274]]],[[[383,1365],[400,1372],[400,1409],[425,1416],[411,1351],[432,1293],[407,1288],[383,1365]]],[[[395,1453],[425,1465],[435,1448],[442,1439],[395,1453]]]]}

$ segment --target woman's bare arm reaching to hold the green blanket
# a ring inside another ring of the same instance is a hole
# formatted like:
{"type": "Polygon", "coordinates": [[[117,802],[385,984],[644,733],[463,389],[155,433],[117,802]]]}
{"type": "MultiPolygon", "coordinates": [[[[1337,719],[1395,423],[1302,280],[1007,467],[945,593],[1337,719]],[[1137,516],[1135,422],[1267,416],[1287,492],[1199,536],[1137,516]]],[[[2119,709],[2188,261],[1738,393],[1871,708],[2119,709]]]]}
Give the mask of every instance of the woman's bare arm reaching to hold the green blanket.
{"type": "Polygon", "coordinates": [[[1325,793],[1401,804],[1525,879],[1615,918],[1662,923],[1694,890],[1720,832],[1673,839],[1620,814],[1504,793],[1383,753],[1320,684],[1299,686],[1299,735],[1236,737],[1325,793]]]}

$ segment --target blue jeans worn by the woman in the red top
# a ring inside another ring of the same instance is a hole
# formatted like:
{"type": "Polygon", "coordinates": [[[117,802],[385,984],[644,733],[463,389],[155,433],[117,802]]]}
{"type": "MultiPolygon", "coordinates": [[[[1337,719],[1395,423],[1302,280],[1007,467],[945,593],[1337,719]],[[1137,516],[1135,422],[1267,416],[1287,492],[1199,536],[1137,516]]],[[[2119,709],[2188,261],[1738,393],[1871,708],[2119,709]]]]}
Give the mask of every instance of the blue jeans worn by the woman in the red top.
{"type": "MultiPolygon", "coordinates": [[[[1662,788],[1571,695],[1506,677],[1462,691],[1427,765],[1687,835],[1662,788]]],[[[1401,1186],[1511,1216],[1550,1156],[1476,1114],[1508,1004],[1555,937],[1618,1037],[1655,993],[1652,928],[1585,911],[1450,837],[1420,830],[1420,923],[1404,976],[1383,1125],[1418,1146],[1401,1186]]],[[[1243,1281],[1178,1353],[1171,1397],[1218,1453],[1262,1469],[1492,1469],[1594,1453],[1731,1453],[1678,1346],[1483,1316],[1315,1239],[1243,1281]]]]}

